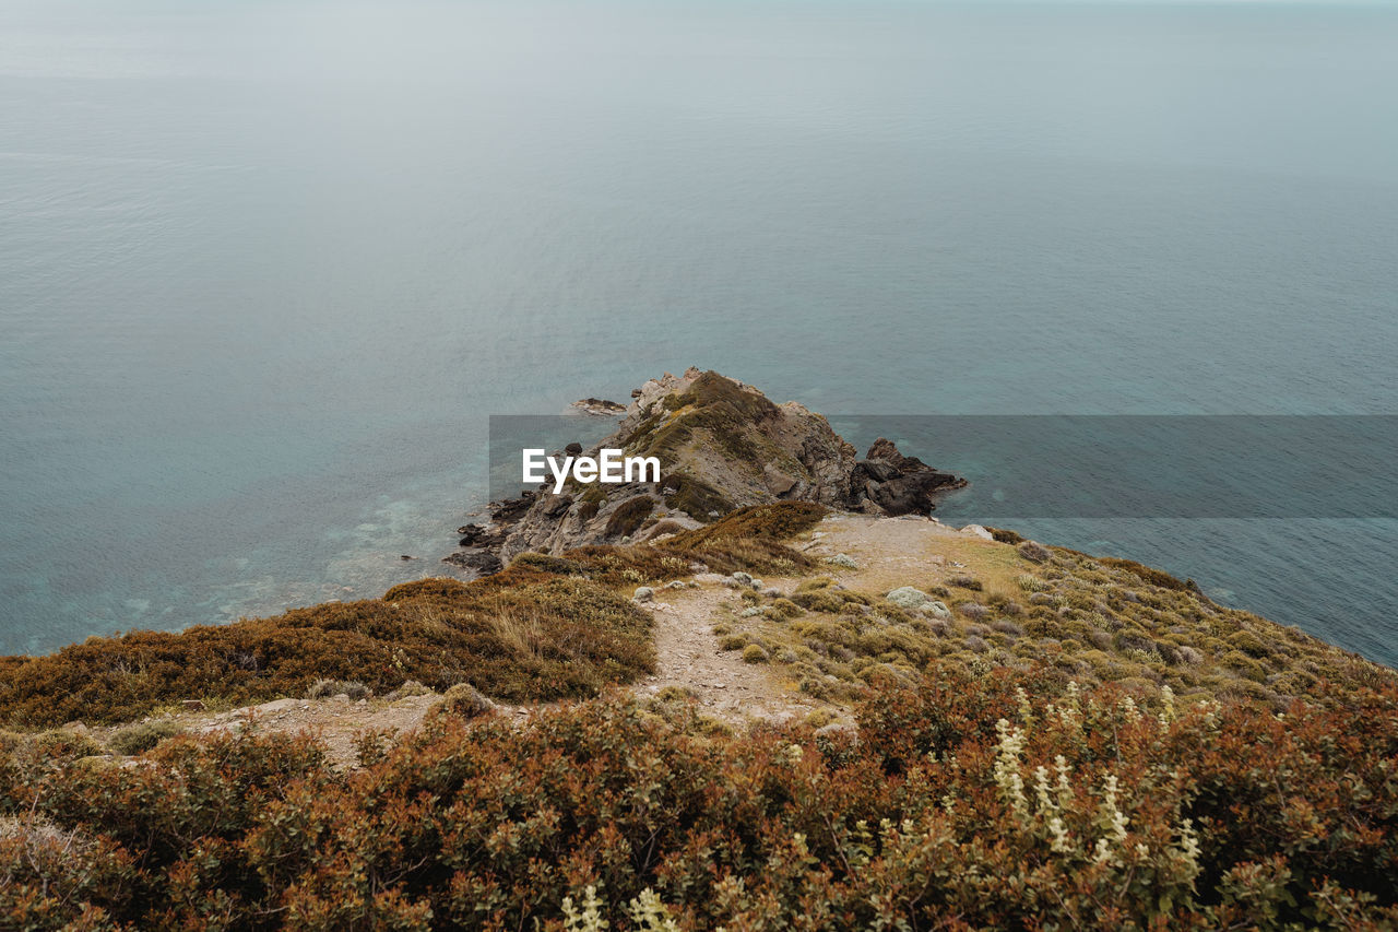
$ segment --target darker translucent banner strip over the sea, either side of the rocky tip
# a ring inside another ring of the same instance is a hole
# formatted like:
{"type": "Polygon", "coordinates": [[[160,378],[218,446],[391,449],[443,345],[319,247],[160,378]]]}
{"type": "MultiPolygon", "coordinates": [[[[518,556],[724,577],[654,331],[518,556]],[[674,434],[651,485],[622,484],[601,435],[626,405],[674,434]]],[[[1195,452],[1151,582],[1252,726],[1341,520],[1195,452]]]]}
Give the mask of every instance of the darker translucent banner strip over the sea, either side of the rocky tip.
{"type": "MultiPolygon", "coordinates": [[[[944,518],[1398,518],[1398,416],[840,414],[858,448],[970,480],[944,518]]],[[[492,416],[491,497],[517,495],[521,451],[594,446],[617,421],[492,416]]],[[[668,472],[672,463],[663,463],[668,472]]]]}

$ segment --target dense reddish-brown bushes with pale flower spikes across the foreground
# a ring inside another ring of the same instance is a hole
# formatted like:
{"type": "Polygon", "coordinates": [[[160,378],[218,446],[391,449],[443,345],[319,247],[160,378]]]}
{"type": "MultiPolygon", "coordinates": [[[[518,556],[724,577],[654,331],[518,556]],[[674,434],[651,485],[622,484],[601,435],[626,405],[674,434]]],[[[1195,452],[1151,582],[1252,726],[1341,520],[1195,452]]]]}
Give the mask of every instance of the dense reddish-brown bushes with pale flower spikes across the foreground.
{"type": "Polygon", "coordinates": [[[354,774],[217,735],[0,777],[0,926],[1398,921],[1392,689],[1278,718],[1050,670],[870,676],[857,740],[734,735],[675,696],[443,716],[354,774]]]}

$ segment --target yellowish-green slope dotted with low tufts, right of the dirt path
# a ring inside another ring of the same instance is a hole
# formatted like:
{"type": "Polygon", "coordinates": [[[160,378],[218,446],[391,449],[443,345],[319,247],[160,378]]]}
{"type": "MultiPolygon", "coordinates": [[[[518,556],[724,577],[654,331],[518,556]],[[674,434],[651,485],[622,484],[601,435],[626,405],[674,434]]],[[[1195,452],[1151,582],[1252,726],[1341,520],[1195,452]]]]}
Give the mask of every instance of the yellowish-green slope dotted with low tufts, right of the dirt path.
{"type": "Polygon", "coordinates": [[[854,698],[881,675],[911,683],[925,670],[986,676],[995,668],[1117,683],[1142,698],[1169,686],[1181,697],[1278,709],[1334,686],[1395,682],[1387,668],[1218,606],[1141,564],[1057,547],[1030,560],[1015,546],[956,533],[906,539],[920,550],[875,557],[844,574],[843,586],[807,579],[779,602],[745,593],[742,609],[716,627],[723,647],[755,644],[804,691],[826,698],[854,698]],[[951,617],[882,598],[906,585],[941,600],[951,617]]]}

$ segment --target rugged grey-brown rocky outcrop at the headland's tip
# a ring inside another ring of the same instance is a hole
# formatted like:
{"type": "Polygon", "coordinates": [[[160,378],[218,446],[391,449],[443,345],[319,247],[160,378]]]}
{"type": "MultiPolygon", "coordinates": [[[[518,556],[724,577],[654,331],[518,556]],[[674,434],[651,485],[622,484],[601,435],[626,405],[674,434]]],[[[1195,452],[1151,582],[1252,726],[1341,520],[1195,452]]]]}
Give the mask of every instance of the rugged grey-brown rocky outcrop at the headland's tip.
{"type": "MultiPolygon", "coordinates": [[[[597,399],[586,403],[597,407],[597,399]]],[[[559,494],[541,488],[492,502],[489,523],[461,528],[461,550],[446,563],[489,574],[526,550],[556,554],[584,544],[651,540],[773,501],[927,514],[937,493],[966,484],[902,455],[886,439],[861,459],[822,416],[795,402],[776,404],[749,385],[699,369],[650,379],[632,392],[615,432],[589,451],[570,445],[568,453],[596,455],[600,448],[657,458],[660,481],[570,480],[559,494]]]]}

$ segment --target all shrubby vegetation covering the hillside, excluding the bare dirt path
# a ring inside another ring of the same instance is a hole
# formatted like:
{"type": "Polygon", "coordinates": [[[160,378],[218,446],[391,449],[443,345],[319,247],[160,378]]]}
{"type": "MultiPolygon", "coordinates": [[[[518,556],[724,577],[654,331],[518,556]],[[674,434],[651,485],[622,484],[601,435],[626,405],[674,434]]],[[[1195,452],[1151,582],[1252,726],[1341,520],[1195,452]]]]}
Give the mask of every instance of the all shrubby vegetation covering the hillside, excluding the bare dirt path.
{"type": "Polygon", "coordinates": [[[348,771],[256,729],[133,725],[126,757],[0,733],[0,928],[1398,924],[1391,670],[1130,561],[826,515],[754,507],[471,584],[6,658],[15,728],[323,679],[456,689],[414,733],[365,732],[348,771]],[[938,560],[822,557],[842,521],[938,560]],[[780,579],[730,577],[716,644],[854,728],[608,693],[654,663],[632,592],[698,571],[780,579]],[[601,697],[520,725],[475,690],[601,697]]]}

